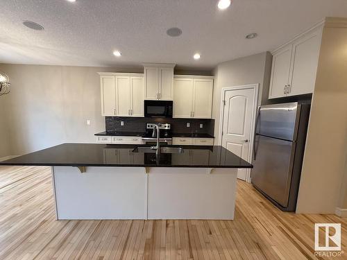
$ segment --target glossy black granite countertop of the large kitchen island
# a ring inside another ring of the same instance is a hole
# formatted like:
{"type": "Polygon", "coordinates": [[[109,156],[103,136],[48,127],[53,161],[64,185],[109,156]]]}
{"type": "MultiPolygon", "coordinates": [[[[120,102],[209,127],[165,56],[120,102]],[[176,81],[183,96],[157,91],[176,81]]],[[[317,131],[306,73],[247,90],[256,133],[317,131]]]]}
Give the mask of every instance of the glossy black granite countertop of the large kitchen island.
{"type": "Polygon", "coordinates": [[[0,162],[0,166],[253,168],[222,146],[180,146],[183,153],[162,153],[159,158],[155,157],[155,153],[134,153],[137,146],[139,145],[60,144],[8,159],[0,162]]]}

